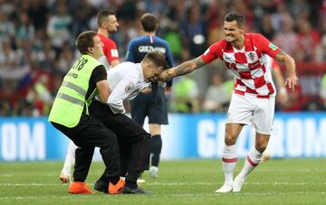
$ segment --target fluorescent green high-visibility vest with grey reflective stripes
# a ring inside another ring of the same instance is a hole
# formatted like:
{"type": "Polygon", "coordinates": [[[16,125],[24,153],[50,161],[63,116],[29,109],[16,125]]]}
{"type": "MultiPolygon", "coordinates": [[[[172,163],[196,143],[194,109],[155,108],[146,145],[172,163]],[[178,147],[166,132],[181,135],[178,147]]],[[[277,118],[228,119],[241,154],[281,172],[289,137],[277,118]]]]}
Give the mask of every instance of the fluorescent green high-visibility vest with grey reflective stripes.
{"type": "Polygon", "coordinates": [[[97,89],[93,90],[88,99],[86,99],[86,93],[89,88],[91,72],[99,65],[101,62],[89,55],[82,55],[73,64],[71,70],[64,76],[62,85],[54,99],[49,115],[50,122],[73,127],[79,123],[84,107],[88,115],[88,106],[97,89]]]}

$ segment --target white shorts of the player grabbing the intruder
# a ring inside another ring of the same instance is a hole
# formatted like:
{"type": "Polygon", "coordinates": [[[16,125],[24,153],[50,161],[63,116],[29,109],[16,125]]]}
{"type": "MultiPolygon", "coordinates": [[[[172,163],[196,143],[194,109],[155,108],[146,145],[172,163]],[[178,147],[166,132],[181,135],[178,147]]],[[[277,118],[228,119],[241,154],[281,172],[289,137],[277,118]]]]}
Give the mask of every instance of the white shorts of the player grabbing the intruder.
{"type": "Polygon", "coordinates": [[[275,98],[252,98],[232,94],[226,124],[253,125],[257,133],[271,135],[275,98]]]}

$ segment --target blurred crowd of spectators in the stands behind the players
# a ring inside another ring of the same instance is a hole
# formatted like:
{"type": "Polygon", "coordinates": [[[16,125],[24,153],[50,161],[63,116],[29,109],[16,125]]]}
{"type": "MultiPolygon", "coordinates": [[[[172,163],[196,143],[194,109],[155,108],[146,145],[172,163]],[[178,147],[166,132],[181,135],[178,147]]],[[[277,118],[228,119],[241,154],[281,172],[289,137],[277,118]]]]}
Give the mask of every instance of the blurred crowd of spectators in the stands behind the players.
{"type": "MultiPolygon", "coordinates": [[[[76,36],[97,31],[100,9],[116,12],[120,27],[110,38],[121,61],[129,41],[140,35],[139,16],[152,13],[176,64],[224,38],[224,15],[238,11],[245,15],[246,32],[263,33],[303,63],[301,87],[288,91],[288,102],[278,110],[326,107],[326,0],[0,0],[0,116],[48,114],[62,77],[79,55],[76,36]],[[305,63],[319,71],[305,75],[305,63]],[[308,100],[298,103],[302,98],[308,100]]],[[[206,67],[175,80],[170,111],[225,111],[233,88],[230,74],[220,61],[206,67]]]]}

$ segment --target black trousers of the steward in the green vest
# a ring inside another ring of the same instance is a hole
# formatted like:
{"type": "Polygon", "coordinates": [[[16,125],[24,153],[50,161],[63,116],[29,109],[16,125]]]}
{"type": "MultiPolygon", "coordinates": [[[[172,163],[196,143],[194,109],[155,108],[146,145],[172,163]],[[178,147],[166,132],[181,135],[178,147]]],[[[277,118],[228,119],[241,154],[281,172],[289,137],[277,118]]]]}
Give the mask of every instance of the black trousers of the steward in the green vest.
{"type": "Polygon", "coordinates": [[[106,178],[119,177],[120,151],[117,135],[104,126],[100,120],[93,116],[82,115],[79,124],[72,128],[53,122],[52,124],[79,146],[75,151],[74,181],[86,180],[95,147],[100,147],[101,157],[106,167],[104,171],[106,178]]]}

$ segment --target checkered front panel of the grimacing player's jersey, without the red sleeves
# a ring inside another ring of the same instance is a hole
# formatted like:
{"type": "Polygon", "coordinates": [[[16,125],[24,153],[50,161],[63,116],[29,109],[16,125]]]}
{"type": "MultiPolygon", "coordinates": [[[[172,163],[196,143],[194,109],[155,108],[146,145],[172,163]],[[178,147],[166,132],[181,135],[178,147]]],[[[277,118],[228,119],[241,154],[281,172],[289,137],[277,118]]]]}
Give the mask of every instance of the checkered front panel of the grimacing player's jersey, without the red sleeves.
{"type": "Polygon", "coordinates": [[[235,93],[255,98],[270,98],[275,89],[270,70],[264,66],[264,56],[250,41],[242,50],[227,44],[222,51],[226,67],[235,76],[235,93]]]}

